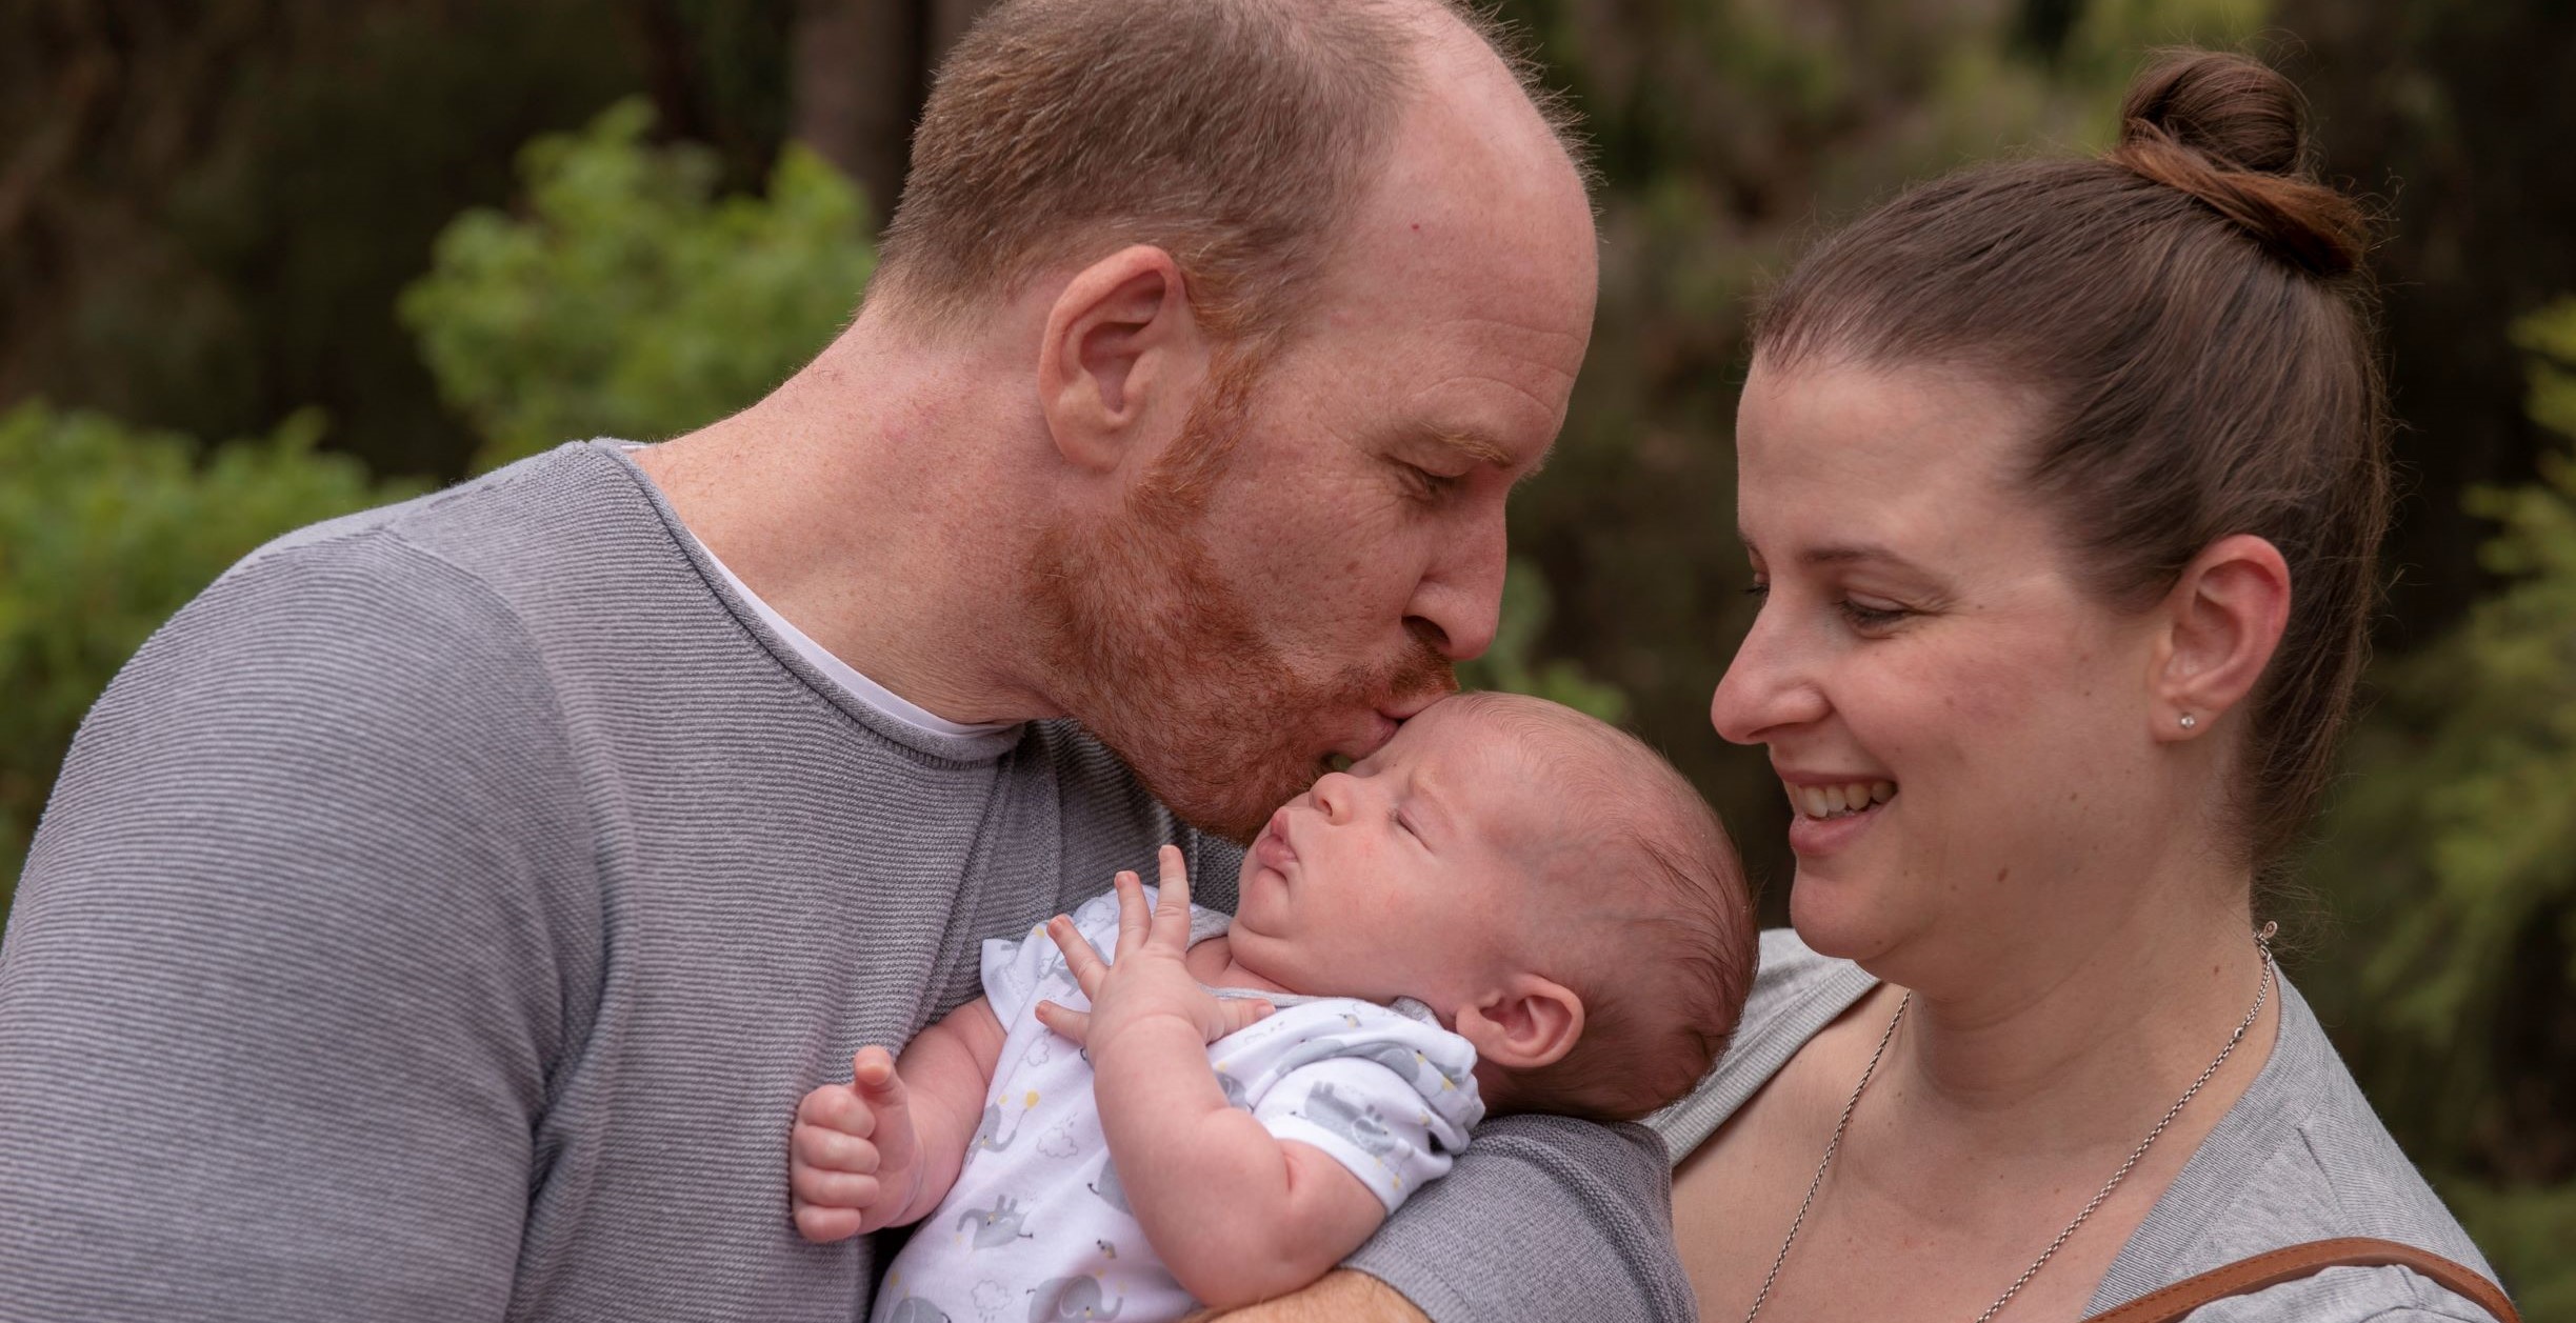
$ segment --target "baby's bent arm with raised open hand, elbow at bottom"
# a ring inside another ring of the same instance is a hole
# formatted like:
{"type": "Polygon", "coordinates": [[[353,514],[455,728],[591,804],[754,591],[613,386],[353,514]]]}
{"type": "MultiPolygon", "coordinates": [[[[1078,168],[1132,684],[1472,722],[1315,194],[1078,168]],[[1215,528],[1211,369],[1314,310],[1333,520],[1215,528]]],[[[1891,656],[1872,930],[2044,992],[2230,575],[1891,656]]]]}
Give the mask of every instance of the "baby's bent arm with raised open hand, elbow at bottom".
{"type": "Polygon", "coordinates": [[[1265,1009],[1218,1001],[1182,968],[1190,880],[1162,852],[1151,919],[1133,873],[1118,875],[1118,963],[1051,924],[1090,1014],[1041,1004],[1038,1019],[1087,1040],[1100,1130],[1136,1223],[1182,1290],[1211,1308],[1247,1305],[1327,1274],[1386,1220],[1386,1205],[1321,1148],[1280,1140],[1226,1104],[1208,1042],[1265,1009]]]}

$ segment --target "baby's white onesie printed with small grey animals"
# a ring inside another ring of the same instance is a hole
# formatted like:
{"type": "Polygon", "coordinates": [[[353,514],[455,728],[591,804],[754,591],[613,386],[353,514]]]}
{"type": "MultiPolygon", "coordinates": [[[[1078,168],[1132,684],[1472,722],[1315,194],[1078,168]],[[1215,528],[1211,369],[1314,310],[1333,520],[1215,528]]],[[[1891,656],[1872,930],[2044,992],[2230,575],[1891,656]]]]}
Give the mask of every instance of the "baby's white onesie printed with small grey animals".
{"type": "MultiPolygon", "coordinates": [[[[1084,901],[1074,929],[1110,960],[1118,896],[1084,901]]],[[[1190,945],[1218,932],[1224,914],[1190,909],[1190,945]]],[[[1476,1048],[1419,1001],[1388,1009],[1347,996],[1213,991],[1278,1006],[1208,1045],[1226,1102],[1283,1140],[1332,1153],[1388,1212],[1445,1176],[1484,1117],[1476,1048]]],[[[1162,1269],[1118,1189],[1090,1058],[1038,1024],[1038,1001],[1090,1009],[1046,929],[984,942],[984,996],[1007,1035],[984,1091],[984,1125],[956,1187],[886,1269],[876,1323],[1154,1323],[1190,1313],[1195,1302],[1162,1269]]]]}

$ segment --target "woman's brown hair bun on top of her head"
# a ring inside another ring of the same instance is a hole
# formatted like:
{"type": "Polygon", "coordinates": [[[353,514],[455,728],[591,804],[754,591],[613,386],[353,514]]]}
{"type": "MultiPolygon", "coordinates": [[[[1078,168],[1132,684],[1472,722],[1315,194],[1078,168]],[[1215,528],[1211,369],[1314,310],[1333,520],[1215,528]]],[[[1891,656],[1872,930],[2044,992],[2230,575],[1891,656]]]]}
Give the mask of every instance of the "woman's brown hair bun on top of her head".
{"type": "Polygon", "coordinates": [[[2128,88],[2120,121],[2115,165],[2200,198],[2300,270],[2334,278],[2362,265],[2370,219],[2316,183],[2308,103],[2269,64],[2169,54],[2128,88]]]}

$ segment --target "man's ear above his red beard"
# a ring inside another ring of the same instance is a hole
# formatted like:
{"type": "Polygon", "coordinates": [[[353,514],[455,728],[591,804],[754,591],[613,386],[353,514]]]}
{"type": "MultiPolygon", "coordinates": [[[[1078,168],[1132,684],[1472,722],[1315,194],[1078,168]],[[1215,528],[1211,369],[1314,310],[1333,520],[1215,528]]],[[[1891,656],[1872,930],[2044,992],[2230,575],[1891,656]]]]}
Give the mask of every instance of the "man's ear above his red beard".
{"type": "Polygon", "coordinates": [[[1077,468],[1113,471],[1139,435],[1206,376],[1208,345],[1170,252],[1123,247],[1079,273],[1046,311],[1038,407],[1077,468]]]}

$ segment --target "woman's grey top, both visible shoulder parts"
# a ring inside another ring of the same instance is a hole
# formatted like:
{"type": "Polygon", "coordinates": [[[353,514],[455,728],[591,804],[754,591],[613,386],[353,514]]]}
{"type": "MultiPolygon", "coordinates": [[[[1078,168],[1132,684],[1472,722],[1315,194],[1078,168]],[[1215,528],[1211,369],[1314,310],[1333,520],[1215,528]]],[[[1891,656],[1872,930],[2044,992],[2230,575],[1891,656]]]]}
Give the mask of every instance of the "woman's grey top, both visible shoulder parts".
{"type": "MultiPolygon", "coordinates": [[[[1860,965],[1816,955],[1795,932],[1765,932],[1762,970],[1734,1048],[1698,1091],[1649,1120],[1672,1145],[1674,1161],[1713,1135],[1806,1040],[1875,986],[1860,965]]],[[[2316,1012],[2282,981],[2272,1060],[2120,1246],[2084,1313],[2102,1313],[2251,1254],[2331,1235],[2401,1241],[2494,1277],[2478,1246],[2370,1112],[2316,1012]]],[[[2406,1269],[2326,1269],[2215,1302],[2192,1318],[2491,1323],[2478,1305],[2406,1269]]]]}

